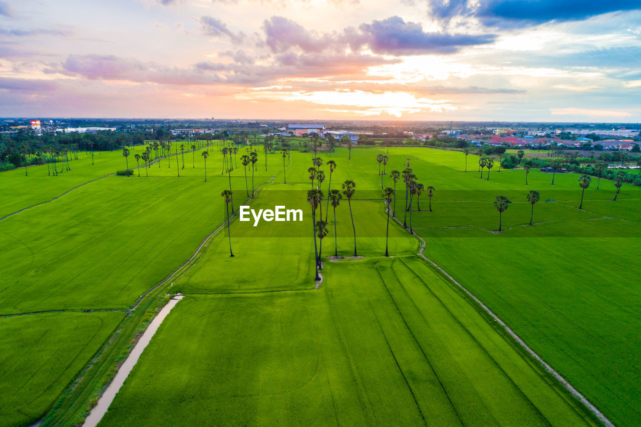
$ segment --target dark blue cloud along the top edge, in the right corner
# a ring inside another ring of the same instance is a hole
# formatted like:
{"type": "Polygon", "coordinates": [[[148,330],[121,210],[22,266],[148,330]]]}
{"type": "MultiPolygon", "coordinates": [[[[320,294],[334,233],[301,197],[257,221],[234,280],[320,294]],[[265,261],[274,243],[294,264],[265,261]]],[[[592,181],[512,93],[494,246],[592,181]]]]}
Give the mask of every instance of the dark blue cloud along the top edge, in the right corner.
{"type": "Polygon", "coordinates": [[[602,13],[641,9],[638,0],[428,0],[435,17],[475,17],[488,26],[512,27],[586,19],[602,13]]]}

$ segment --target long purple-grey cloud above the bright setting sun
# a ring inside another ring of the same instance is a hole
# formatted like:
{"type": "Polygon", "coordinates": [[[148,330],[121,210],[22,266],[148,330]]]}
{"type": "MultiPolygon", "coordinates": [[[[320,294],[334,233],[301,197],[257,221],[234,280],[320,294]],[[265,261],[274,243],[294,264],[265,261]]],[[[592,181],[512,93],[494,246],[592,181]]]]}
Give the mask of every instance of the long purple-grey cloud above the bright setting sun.
{"type": "Polygon", "coordinates": [[[363,47],[378,54],[419,55],[430,53],[453,53],[462,46],[489,44],[496,35],[467,35],[449,33],[426,33],[420,24],[405,22],[394,16],[383,21],[361,24],[358,29],[345,28],[342,33],[319,34],[310,31],[291,19],[273,16],[263,22],[266,44],[274,53],[284,53],[298,47],[305,53],[325,50],[360,51],[363,47]]]}

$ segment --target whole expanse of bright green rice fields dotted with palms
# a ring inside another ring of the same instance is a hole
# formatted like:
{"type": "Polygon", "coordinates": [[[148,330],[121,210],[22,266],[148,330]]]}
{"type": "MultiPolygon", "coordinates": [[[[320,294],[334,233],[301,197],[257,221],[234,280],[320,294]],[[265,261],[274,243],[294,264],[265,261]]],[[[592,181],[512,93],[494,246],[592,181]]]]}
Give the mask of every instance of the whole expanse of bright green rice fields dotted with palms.
{"type": "MultiPolygon", "coordinates": [[[[60,356],[61,363],[70,366],[64,380],[37,369],[35,384],[58,385],[38,398],[21,398],[30,412],[0,398],[0,411],[7,414],[1,426],[28,424],[52,407],[115,329],[117,319],[221,226],[220,194],[230,181],[235,209],[245,203],[240,164],[244,147],[230,176],[222,174],[216,146],[209,151],[206,182],[200,153],[194,153],[196,167],[186,153],[185,169],[176,170],[173,156],[171,167],[162,160],[148,171],[140,169],[140,178],[107,176],[0,222],[0,261],[6,277],[0,315],[62,310],[83,317],[97,313],[82,310],[119,310],[110,313],[115,321],[104,322],[104,336],[97,344],[91,337],[99,334],[91,335],[88,326],[73,335],[69,346],[89,348],[87,343],[94,342],[94,347],[60,356]]],[[[347,149],[319,155],[324,163],[338,163],[332,188],[340,188],[346,179],[356,181],[351,207],[356,249],[365,259],[327,259],[335,245],[330,208],[318,287],[313,281],[311,210],[305,199],[313,154],[292,151],[283,174],[280,153],[267,155],[265,171],[259,147],[254,187],[260,188],[249,205],[301,208],[304,221],[263,221],[253,227],[253,221],[233,217],[235,257],[229,257],[227,231],[221,227],[172,278],[172,285],[166,283],[143,298],[153,306],[162,292],[186,294],[101,425],[193,425],[203,419],[247,425],[597,424],[456,285],[415,256],[419,240],[395,221],[390,222],[388,241],[394,257],[381,256],[386,215],[376,155],[386,152],[353,149],[351,160],[347,149]]],[[[581,189],[574,174],[556,174],[553,186],[551,174],[533,170],[526,185],[524,171],[498,172],[497,166],[489,180],[487,171],[479,179],[474,155],[468,156],[468,172],[463,172],[465,156],[456,151],[390,147],[387,155],[383,185],[392,187],[389,172],[403,171],[409,159],[418,181],[436,187],[433,212],[426,212],[426,193],[420,196],[420,212],[416,201],[412,204],[412,227],[426,241],[425,255],[479,297],[613,423],[641,423],[641,375],[636,368],[641,292],[635,287],[640,271],[634,261],[641,255],[639,188],[624,185],[612,201],[612,182],[601,180],[596,190],[594,180],[585,192],[584,210],[579,210],[581,189]],[[531,205],[525,196],[532,189],[541,199],[529,226],[531,205]],[[499,194],[512,201],[503,213],[503,233],[495,232],[499,215],[493,201],[499,194]]],[[[15,189],[21,182],[17,180],[42,174],[42,166],[29,168],[28,177],[11,171],[12,181],[0,180],[6,194],[16,194],[6,211],[124,169],[120,153],[102,156],[103,172],[86,172],[84,178],[64,184],[60,181],[81,171],[80,162],[87,158],[74,161],[77,168],[72,162],[72,171],[59,177],[46,176],[45,166],[46,179],[36,181],[28,197],[15,189]]],[[[326,193],[329,170],[326,165],[322,169],[326,193]]],[[[402,180],[396,190],[395,216],[409,225],[402,180]]],[[[337,208],[336,232],[338,255],[353,255],[345,199],[337,208]]],[[[41,316],[0,318],[0,328],[9,319],[41,316]]],[[[3,346],[34,340],[33,335],[14,335],[3,346]]],[[[124,344],[131,339],[133,335],[124,344]]],[[[113,346],[122,346],[121,340],[113,346]]],[[[32,365],[46,364],[57,348],[56,342],[42,341],[32,351],[32,365]]],[[[103,364],[108,371],[115,361],[113,356],[96,366],[103,364]]],[[[88,372],[90,376],[94,371],[88,372]]],[[[12,380],[9,386],[18,383],[12,380]]],[[[92,387],[98,390],[100,384],[92,387]]],[[[96,392],[87,389],[78,401],[70,400],[75,395],[68,392],[44,425],[82,419],[88,399],[93,399],[89,396],[96,392]]]]}

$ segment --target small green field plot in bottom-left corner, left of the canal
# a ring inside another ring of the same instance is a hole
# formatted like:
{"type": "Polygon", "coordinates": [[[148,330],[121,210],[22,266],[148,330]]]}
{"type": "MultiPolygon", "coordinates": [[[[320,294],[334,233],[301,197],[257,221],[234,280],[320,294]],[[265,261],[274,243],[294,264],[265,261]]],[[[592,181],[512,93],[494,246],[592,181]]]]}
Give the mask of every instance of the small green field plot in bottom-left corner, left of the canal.
{"type": "Polygon", "coordinates": [[[0,318],[0,425],[35,423],[96,353],[122,312],[0,318]]]}

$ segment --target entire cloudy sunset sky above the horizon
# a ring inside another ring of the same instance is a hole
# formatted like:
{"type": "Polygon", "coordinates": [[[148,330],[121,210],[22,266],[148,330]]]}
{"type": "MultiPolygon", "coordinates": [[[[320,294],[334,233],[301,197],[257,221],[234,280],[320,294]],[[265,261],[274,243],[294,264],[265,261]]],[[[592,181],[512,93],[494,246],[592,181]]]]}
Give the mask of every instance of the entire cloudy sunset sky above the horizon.
{"type": "Polygon", "coordinates": [[[638,0],[0,0],[0,116],[641,122],[638,0]]]}

